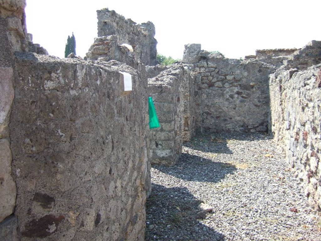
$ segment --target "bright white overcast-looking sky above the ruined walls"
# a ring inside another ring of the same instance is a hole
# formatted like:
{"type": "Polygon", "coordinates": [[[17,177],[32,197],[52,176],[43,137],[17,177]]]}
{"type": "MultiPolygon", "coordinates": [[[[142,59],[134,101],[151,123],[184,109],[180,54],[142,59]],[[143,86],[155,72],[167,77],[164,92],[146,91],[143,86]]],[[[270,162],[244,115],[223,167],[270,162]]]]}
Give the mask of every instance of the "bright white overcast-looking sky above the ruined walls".
{"type": "Polygon", "coordinates": [[[187,43],[244,58],[256,49],[321,40],[320,0],[27,0],[27,30],[34,43],[60,58],[74,32],[76,53],[84,57],[97,37],[96,10],[105,7],[137,23],[153,22],[158,53],[173,58],[182,58],[187,43]]]}

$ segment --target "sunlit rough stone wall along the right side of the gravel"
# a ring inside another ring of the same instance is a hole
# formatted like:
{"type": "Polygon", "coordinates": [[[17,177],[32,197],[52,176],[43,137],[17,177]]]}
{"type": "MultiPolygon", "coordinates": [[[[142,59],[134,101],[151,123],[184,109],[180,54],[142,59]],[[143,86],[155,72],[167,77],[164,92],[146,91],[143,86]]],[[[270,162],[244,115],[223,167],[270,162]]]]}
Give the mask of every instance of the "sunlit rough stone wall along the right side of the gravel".
{"type": "Polygon", "coordinates": [[[270,76],[272,134],[321,210],[321,65],[270,76]]]}

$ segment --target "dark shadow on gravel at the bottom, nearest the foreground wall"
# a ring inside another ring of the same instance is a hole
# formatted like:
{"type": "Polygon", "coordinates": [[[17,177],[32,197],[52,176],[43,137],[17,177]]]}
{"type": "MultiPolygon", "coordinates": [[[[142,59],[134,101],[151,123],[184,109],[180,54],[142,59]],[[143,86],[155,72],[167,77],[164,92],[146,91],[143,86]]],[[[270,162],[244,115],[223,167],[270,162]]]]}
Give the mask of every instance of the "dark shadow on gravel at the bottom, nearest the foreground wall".
{"type": "Polygon", "coordinates": [[[225,240],[221,233],[199,222],[211,215],[199,208],[200,203],[185,187],[166,188],[152,183],[146,203],[145,240],[225,240]]]}

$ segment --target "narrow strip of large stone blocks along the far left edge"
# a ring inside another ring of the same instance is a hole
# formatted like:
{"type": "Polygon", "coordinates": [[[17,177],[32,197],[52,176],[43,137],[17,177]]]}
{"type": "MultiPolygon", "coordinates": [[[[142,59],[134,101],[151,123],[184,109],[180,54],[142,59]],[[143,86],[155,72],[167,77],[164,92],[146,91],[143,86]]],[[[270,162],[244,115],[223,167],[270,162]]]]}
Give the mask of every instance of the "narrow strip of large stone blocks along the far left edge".
{"type": "Polygon", "coordinates": [[[13,52],[26,49],[24,0],[0,1],[0,240],[17,240],[17,218],[12,215],[16,183],[12,178],[9,122],[14,97],[13,52]]]}

